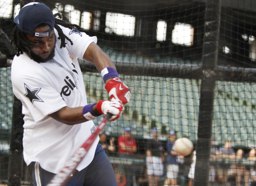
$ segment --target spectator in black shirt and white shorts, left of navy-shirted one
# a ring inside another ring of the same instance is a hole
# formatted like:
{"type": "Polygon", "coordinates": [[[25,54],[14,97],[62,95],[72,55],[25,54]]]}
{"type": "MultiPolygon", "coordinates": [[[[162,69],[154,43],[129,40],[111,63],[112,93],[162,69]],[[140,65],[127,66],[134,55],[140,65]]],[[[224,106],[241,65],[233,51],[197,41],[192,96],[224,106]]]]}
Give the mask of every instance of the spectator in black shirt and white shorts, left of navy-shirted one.
{"type": "Polygon", "coordinates": [[[146,144],[146,166],[149,186],[157,186],[160,176],[164,174],[164,154],[162,142],[158,139],[157,128],[152,129],[153,138],[146,144]]]}

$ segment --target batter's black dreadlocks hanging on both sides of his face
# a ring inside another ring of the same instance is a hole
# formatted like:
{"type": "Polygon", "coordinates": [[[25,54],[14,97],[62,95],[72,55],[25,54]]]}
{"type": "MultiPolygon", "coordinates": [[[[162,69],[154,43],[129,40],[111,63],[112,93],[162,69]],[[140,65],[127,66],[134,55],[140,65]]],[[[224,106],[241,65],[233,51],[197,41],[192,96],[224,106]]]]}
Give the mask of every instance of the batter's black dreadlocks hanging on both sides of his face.
{"type": "MultiPolygon", "coordinates": [[[[60,39],[61,44],[60,44],[60,48],[62,47],[66,47],[66,39],[70,42],[71,45],[73,45],[73,41],[71,41],[70,38],[68,38],[62,31],[62,29],[59,27],[59,25],[61,25],[62,27],[66,27],[69,29],[77,29],[79,31],[84,31],[84,29],[82,29],[81,27],[79,27],[77,24],[71,24],[71,23],[67,23],[65,21],[62,21],[62,16],[60,13],[56,13],[54,14],[54,18],[55,18],[55,24],[54,24],[54,28],[58,31],[59,37],[58,39],[60,39]],[[57,16],[60,18],[58,19],[57,16]]],[[[31,47],[36,46],[36,47],[40,47],[36,44],[34,44],[33,42],[31,42],[30,40],[28,40],[26,33],[22,32],[18,26],[16,25],[13,29],[12,32],[12,40],[11,40],[11,44],[14,44],[15,46],[15,50],[16,55],[19,56],[20,54],[23,54],[23,52],[27,53],[28,56],[30,58],[31,57],[31,47]]]]}

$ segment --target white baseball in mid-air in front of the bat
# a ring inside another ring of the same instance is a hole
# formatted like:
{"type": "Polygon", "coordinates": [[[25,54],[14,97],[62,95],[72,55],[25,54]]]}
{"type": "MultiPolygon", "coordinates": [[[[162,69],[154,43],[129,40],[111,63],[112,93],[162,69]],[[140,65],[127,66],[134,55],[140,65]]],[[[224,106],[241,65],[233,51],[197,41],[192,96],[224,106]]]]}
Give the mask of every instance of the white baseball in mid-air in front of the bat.
{"type": "Polygon", "coordinates": [[[175,140],[174,148],[180,155],[187,156],[192,153],[194,145],[188,138],[179,138],[175,140]]]}

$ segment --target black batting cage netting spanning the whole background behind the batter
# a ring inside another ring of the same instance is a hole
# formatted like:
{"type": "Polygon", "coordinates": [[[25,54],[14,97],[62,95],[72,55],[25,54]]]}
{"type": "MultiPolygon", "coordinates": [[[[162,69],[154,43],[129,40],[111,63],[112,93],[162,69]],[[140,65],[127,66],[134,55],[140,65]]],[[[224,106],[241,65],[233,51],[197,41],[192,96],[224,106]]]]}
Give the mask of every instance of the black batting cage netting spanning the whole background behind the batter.
{"type": "MultiPolygon", "coordinates": [[[[13,18],[28,2],[0,1],[0,184],[5,185],[33,185],[22,155],[22,107],[11,83],[13,18]]],[[[256,1],[38,2],[97,36],[131,89],[122,116],[100,134],[118,186],[256,185],[256,1]],[[157,148],[154,138],[161,143],[157,148]],[[172,138],[188,138],[193,150],[170,161],[176,151],[172,138]]],[[[87,102],[109,99],[95,66],[79,63],[87,102]]]]}

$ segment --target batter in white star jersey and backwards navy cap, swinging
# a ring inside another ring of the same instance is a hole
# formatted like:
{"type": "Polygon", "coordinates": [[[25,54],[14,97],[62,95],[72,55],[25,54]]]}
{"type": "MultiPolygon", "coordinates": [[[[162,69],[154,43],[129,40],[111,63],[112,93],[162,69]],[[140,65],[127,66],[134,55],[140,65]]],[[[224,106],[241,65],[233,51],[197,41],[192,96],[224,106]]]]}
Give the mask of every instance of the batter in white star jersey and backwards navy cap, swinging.
{"type": "MultiPolygon", "coordinates": [[[[11,80],[25,115],[23,156],[34,185],[46,185],[94,132],[93,119],[107,113],[113,114],[110,121],[121,116],[130,89],[118,79],[114,63],[97,45],[97,37],[63,22],[45,4],[26,4],[14,23],[11,43],[16,55],[11,80]],[[101,72],[111,101],[87,104],[78,58],[101,72]]],[[[98,142],[99,137],[67,185],[117,185],[113,167],[98,142]]]]}

